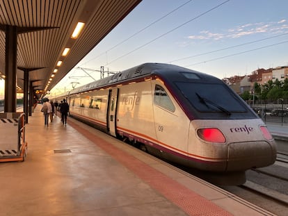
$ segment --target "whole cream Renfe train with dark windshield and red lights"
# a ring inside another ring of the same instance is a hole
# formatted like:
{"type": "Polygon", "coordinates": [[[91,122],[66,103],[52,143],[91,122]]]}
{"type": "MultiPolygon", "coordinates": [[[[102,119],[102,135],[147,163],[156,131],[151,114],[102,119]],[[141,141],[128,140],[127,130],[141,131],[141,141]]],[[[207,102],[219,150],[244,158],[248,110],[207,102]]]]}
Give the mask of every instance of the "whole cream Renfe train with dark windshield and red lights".
{"type": "Polygon", "coordinates": [[[55,100],[62,99],[74,118],[179,165],[232,176],[232,184],[275,162],[262,119],[223,81],[191,69],[145,63],[55,100]]]}

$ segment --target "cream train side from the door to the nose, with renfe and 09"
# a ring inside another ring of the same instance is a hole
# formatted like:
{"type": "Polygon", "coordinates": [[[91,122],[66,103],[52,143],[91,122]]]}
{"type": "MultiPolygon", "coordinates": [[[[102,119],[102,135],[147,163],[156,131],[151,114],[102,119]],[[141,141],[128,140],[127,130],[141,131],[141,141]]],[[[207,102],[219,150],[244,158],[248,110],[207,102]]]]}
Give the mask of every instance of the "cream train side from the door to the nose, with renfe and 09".
{"type": "Polygon", "coordinates": [[[152,80],[120,87],[118,133],[142,142],[150,153],[179,163],[187,155],[189,123],[163,82],[152,80]]]}

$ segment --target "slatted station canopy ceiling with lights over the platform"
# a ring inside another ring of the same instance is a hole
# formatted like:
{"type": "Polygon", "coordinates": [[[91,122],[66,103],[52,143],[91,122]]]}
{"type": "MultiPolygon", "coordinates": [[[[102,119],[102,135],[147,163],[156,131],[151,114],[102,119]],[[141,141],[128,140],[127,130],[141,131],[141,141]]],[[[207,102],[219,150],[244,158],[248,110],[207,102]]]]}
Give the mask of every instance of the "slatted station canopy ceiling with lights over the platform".
{"type": "Polygon", "coordinates": [[[0,2],[0,78],[5,78],[6,26],[17,26],[17,85],[23,68],[38,92],[61,81],[141,0],[3,0],[0,2]],[[83,24],[72,38],[77,24],[83,24]],[[67,48],[67,49],[66,49],[67,48]],[[68,51],[66,56],[63,51],[68,51]],[[61,65],[60,65],[61,63],[61,65]]]}

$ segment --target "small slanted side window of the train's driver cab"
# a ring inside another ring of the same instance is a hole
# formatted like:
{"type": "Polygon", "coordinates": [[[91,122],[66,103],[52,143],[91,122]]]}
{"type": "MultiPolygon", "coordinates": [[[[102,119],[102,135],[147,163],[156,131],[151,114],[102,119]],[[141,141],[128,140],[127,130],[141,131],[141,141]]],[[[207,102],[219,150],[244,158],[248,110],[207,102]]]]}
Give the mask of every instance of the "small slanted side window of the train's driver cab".
{"type": "Polygon", "coordinates": [[[165,108],[166,110],[175,112],[175,106],[173,102],[171,101],[166,91],[160,85],[155,86],[154,103],[157,106],[165,108]]]}

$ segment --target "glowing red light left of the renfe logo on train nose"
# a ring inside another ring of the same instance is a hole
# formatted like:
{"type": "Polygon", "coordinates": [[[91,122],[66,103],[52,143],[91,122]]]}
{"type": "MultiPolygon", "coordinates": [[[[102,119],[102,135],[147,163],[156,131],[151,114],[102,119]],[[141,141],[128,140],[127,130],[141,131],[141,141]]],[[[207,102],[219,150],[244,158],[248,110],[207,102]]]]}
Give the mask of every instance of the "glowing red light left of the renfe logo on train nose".
{"type": "Polygon", "coordinates": [[[207,142],[225,143],[223,133],[217,128],[201,128],[197,131],[199,138],[207,142]]]}

